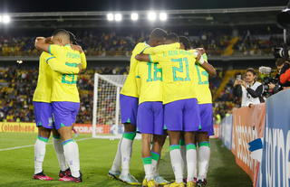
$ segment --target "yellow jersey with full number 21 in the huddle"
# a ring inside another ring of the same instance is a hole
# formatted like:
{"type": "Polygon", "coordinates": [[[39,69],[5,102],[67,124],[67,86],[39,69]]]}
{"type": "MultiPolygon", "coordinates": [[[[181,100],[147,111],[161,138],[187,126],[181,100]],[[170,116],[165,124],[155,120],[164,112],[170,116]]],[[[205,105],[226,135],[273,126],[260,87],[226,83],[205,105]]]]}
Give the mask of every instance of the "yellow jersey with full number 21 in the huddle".
{"type": "Polygon", "coordinates": [[[195,56],[184,50],[163,51],[150,55],[150,62],[159,62],[163,78],[163,104],[197,98],[194,88],[195,56]]]}

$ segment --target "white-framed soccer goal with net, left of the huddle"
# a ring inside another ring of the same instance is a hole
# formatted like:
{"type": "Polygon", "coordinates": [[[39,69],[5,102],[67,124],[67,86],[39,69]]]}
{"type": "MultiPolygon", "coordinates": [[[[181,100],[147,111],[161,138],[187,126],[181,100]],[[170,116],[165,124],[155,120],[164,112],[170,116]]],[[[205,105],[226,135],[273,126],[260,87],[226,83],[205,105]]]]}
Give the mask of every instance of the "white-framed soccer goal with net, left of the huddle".
{"type": "Polygon", "coordinates": [[[126,78],[127,75],[94,74],[93,138],[121,137],[120,91],[126,78]]]}

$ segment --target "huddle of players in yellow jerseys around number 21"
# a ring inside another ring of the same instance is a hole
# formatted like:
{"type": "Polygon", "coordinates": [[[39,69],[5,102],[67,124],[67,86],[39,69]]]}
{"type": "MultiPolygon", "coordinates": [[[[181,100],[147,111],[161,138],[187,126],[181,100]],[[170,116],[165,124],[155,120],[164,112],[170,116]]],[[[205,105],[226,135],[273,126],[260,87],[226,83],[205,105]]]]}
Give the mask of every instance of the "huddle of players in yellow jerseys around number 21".
{"type": "Polygon", "coordinates": [[[207,184],[208,136],[214,133],[208,74],[215,75],[216,70],[208,63],[204,50],[190,50],[185,36],[167,34],[157,28],[148,42],[136,45],[130,73],[120,94],[124,133],[109,176],[149,187],[207,184]],[[136,131],[142,138],[143,182],[130,173],[136,131]],[[159,174],[161,148],[167,135],[174,182],[166,181],[159,174]]]}

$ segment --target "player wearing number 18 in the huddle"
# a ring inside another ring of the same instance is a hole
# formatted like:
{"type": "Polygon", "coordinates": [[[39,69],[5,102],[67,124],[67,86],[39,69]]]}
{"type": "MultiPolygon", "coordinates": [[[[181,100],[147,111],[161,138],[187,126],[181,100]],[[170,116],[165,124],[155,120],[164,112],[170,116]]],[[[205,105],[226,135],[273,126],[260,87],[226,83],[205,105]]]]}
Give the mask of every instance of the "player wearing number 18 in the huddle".
{"type": "MultiPolygon", "coordinates": [[[[145,178],[142,186],[155,186],[153,171],[160,159],[163,142],[162,69],[157,63],[139,62],[136,68],[139,91],[137,127],[142,137],[142,161],[145,178]],[[153,146],[150,150],[151,135],[153,146]]],[[[161,185],[168,182],[160,183],[161,185]]]]}

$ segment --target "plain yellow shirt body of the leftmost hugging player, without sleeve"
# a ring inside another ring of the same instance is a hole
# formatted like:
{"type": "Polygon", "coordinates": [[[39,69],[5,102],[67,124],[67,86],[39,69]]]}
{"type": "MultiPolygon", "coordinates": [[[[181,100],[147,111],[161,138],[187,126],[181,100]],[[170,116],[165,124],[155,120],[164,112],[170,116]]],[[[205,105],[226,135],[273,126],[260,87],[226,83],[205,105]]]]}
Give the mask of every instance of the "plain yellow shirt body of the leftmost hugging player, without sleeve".
{"type": "Polygon", "coordinates": [[[33,99],[37,102],[51,102],[53,70],[46,63],[46,60],[50,57],[52,57],[51,54],[43,51],[39,58],[39,74],[33,99]]]}

